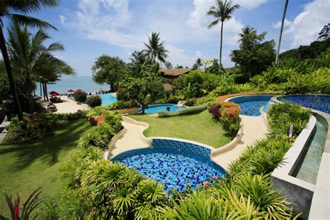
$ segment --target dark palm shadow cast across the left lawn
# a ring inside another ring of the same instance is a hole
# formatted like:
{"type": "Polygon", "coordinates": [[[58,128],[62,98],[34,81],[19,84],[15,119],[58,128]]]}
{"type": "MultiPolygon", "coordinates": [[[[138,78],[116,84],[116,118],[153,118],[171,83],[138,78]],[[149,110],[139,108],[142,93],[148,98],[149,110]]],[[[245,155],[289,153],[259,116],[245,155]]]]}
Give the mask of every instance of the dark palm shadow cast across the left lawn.
{"type": "Polygon", "coordinates": [[[76,120],[61,123],[55,127],[55,134],[45,136],[36,143],[22,143],[17,145],[0,146],[0,155],[15,154],[17,162],[11,167],[12,171],[22,170],[33,162],[40,162],[52,166],[58,162],[58,155],[77,146],[79,136],[90,127],[86,120],[76,120]]]}

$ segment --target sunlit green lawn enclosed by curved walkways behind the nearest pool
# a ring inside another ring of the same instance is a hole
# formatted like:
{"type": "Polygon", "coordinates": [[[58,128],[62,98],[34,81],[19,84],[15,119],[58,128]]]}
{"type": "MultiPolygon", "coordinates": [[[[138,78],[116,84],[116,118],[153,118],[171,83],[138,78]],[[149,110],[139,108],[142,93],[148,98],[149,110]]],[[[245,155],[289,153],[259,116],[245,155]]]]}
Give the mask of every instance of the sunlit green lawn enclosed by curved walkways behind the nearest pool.
{"type": "Polygon", "coordinates": [[[150,125],[143,132],[145,136],[167,136],[187,139],[205,143],[214,148],[219,148],[229,143],[232,139],[207,111],[190,116],[175,116],[171,118],[150,117],[148,114],[129,117],[150,125]]]}

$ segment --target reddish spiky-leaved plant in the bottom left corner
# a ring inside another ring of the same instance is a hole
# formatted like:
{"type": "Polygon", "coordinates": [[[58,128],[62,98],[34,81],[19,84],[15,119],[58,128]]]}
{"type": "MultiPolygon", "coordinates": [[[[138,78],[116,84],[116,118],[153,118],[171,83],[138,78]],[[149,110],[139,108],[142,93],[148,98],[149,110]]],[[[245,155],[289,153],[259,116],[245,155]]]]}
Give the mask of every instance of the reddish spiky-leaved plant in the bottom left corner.
{"type": "MultiPolygon", "coordinates": [[[[25,201],[22,208],[20,207],[21,198],[19,197],[18,193],[14,203],[12,201],[12,196],[8,196],[8,194],[5,193],[7,205],[10,210],[11,219],[29,220],[33,210],[35,210],[40,205],[40,200],[38,199],[38,196],[40,194],[41,194],[41,188],[33,191],[33,193],[25,201]],[[20,214],[19,211],[21,211],[20,214]]],[[[35,219],[36,217],[38,217],[38,213],[35,214],[35,217],[33,219],[35,219]]],[[[0,219],[7,219],[7,218],[3,217],[3,215],[0,214],[0,219]]]]}

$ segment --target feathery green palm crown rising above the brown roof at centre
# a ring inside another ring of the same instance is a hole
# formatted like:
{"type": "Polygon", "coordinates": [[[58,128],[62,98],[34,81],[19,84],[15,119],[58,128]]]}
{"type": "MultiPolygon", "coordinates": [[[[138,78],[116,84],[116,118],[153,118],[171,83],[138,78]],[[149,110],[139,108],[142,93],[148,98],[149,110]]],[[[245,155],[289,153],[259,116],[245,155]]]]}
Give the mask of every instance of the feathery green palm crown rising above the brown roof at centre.
{"type": "Polygon", "coordinates": [[[155,63],[157,58],[162,66],[162,63],[166,61],[168,50],[164,47],[164,41],[160,42],[159,33],[152,32],[151,38],[148,36],[148,42],[145,42],[144,45],[146,46],[145,52],[148,56],[148,60],[155,63]]]}

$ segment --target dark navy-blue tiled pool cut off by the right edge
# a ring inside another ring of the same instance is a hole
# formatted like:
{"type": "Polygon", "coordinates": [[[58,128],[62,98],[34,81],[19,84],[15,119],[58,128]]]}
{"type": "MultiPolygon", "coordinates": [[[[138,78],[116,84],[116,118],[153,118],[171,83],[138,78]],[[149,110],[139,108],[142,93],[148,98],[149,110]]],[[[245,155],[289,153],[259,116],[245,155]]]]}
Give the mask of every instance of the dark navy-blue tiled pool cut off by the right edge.
{"type": "Polygon", "coordinates": [[[288,101],[309,109],[330,113],[330,95],[284,95],[277,99],[281,102],[288,101]]]}

